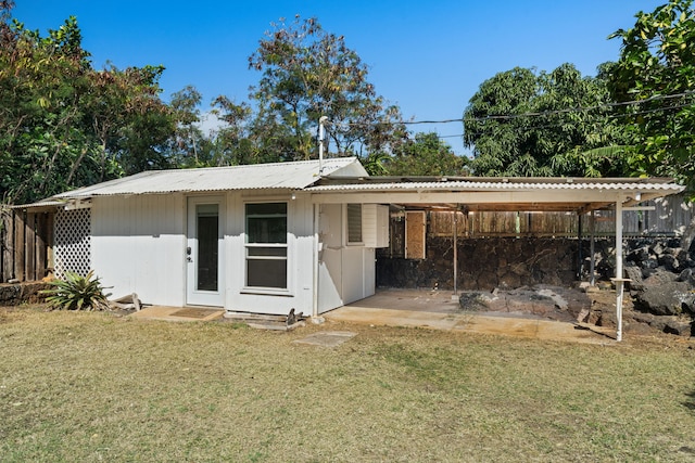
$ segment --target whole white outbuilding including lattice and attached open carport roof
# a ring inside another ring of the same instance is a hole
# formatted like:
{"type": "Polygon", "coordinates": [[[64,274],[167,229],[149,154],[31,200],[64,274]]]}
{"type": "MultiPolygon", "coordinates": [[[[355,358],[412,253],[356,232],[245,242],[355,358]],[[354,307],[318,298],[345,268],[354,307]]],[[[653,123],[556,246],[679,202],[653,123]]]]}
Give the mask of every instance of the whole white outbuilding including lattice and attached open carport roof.
{"type": "Polygon", "coordinates": [[[375,249],[389,245],[394,205],[610,207],[620,244],[622,210],[682,190],[668,179],[375,178],[343,157],[146,171],[40,204],[59,205],[59,278],[93,269],[114,296],[144,304],[318,316],[375,294],[375,249]]]}

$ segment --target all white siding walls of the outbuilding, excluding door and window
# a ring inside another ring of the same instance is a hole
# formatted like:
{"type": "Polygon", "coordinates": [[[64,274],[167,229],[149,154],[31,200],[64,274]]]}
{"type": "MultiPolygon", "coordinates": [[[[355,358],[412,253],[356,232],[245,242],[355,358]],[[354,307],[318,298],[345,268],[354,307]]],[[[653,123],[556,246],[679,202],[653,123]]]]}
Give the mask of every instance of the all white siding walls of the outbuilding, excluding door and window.
{"type": "MultiPolygon", "coordinates": [[[[286,314],[312,312],[314,211],[311,197],[267,196],[288,202],[288,291],[263,294],[244,287],[244,204],[258,196],[230,192],[224,216],[225,308],[286,314]]],[[[186,210],[182,194],[96,197],[92,203],[92,261],[114,297],[137,293],[146,304],[186,305],[186,210]]],[[[321,205],[319,312],[375,292],[372,247],[345,246],[344,206],[321,205]]]]}

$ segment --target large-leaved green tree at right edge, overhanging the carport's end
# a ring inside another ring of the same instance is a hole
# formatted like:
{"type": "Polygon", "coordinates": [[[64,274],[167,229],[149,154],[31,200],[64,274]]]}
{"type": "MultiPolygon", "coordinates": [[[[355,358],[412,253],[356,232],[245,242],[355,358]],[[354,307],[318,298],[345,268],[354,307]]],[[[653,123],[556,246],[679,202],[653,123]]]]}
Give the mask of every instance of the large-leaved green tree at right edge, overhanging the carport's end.
{"type": "Polygon", "coordinates": [[[695,12],[672,0],[610,38],[622,40],[611,69],[611,94],[631,127],[628,163],[643,176],[678,179],[695,188],[695,12]],[[636,102],[636,103],[631,103],[636,102]]]}

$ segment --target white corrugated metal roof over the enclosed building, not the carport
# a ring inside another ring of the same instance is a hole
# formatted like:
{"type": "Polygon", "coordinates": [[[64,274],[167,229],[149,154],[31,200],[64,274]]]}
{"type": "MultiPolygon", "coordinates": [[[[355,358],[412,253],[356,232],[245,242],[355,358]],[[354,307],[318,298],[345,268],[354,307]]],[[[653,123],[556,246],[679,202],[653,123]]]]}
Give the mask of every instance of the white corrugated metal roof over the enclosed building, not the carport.
{"type": "Polygon", "coordinates": [[[213,192],[227,190],[304,189],[321,177],[367,176],[355,157],[254,164],[199,169],[151,170],[65,192],[53,198],[85,198],[125,194],[213,192]]]}

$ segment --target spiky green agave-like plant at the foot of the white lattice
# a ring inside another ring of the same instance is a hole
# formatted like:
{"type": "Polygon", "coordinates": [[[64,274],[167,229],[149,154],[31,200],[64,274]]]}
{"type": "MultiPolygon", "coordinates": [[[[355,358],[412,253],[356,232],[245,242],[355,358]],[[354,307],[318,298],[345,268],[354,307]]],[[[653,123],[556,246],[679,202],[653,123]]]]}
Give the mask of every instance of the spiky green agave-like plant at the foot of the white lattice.
{"type": "Polygon", "coordinates": [[[94,271],[90,270],[85,276],[77,273],[66,272],[64,280],[50,282],[53,285],[50,290],[41,293],[47,294],[46,301],[51,309],[58,310],[105,310],[109,309],[108,297],[104,287],[100,284],[99,278],[94,276],[94,271]]]}

